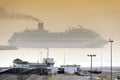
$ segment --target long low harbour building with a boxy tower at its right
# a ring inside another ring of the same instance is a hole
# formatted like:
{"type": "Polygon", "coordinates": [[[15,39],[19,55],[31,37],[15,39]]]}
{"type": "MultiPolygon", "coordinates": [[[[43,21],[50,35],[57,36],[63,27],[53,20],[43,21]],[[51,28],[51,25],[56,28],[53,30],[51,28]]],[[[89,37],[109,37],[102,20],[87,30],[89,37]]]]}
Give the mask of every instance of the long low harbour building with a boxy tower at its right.
{"type": "Polygon", "coordinates": [[[43,58],[43,63],[30,63],[27,61],[22,61],[21,59],[15,59],[13,61],[14,68],[28,68],[28,69],[37,69],[37,68],[46,68],[48,73],[57,73],[58,67],[54,67],[54,58],[43,58]]]}

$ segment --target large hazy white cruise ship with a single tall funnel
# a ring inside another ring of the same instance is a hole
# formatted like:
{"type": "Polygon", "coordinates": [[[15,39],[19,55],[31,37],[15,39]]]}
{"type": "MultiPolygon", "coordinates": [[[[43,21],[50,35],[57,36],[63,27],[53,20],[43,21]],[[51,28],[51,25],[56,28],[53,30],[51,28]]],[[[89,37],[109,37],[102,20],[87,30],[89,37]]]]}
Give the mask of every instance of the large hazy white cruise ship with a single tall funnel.
{"type": "Polygon", "coordinates": [[[11,46],[38,48],[100,48],[108,43],[89,29],[79,27],[65,32],[49,32],[44,30],[43,23],[38,23],[36,30],[14,33],[8,42],[11,46]]]}

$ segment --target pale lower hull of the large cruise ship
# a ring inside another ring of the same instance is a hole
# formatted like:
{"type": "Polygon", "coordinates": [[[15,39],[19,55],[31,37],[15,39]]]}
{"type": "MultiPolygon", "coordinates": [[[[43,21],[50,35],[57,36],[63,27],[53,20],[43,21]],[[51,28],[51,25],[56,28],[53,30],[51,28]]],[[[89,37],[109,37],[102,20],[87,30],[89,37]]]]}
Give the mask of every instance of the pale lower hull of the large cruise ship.
{"type": "Polygon", "coordinates": [[[82,42],[10,42],[11,46],[33,48],[101,48],[107,41],[82,42]]]}

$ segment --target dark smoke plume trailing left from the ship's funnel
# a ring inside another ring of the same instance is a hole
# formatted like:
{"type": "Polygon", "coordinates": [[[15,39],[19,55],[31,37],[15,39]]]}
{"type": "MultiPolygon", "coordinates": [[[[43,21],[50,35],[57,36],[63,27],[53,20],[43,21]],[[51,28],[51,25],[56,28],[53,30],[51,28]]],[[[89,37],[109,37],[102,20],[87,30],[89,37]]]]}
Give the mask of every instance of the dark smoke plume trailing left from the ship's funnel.
{"type": "Polygon", "coordinates": [[[21,20],[21,19],[24,20],[25,19],[25,20],[34,20],[37,22],[41,22],[41,20],[39,20],[36,17],[33,17],[32,15],[26,15],[26,14],[15,13],[15,12],[8,12],[3,7],[0,7],[0,18],[9,18],[9,19],[16,19],[16,20],[21,20]]]}

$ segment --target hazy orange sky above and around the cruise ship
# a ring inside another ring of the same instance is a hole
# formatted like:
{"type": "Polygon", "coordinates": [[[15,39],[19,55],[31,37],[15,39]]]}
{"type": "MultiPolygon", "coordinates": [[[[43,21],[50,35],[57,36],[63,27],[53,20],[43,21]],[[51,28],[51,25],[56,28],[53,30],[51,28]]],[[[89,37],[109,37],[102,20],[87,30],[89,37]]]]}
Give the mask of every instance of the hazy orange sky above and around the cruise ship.
{"type": "MultiPolygon", "coordinates": [[[[115,57],[120,56],[120,0],[0,0],[0,7],[8,13],[37,17],[50,31],[82,25],[105,39],[112,38],[118,48],[115,57]]],[[[0,19],[0,45],[7,44],[14,32],[25,28],[35,29],[37,22],[0,19]]]]}

